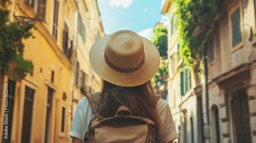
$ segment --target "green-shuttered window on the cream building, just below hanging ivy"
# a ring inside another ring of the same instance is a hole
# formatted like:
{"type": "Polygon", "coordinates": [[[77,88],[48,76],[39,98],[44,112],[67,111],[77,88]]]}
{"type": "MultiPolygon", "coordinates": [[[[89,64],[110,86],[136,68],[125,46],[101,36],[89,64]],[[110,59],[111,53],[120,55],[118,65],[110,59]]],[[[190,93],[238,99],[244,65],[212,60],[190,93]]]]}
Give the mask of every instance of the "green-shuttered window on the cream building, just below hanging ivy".
{"type": "Polygon", "coordinates": [[[186,92],[190,89],[190,71],[189,69],[185,69],[180,73],[180,81],[181,81],[181,95],[184,96],[186,92]]]}

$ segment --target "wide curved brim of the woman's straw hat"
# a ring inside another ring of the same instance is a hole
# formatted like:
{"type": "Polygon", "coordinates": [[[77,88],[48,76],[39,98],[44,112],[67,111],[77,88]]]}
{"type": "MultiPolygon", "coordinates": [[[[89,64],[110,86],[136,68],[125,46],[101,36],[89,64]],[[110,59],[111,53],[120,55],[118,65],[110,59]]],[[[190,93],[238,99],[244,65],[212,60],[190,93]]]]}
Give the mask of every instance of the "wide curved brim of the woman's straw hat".
{"type": "Polygon", "coordinates": [[[151,41],[140,36],[145,54],[145,61],[141,68],[132,73],[120,73],[111,68],[104,59],[106,43],[110,36],[111,34],[98,39],[89,53],[91,66],[100,78],[118,86],[132,87],[144,84],[155,76],[160,65],[160,55],[151,41]]]}

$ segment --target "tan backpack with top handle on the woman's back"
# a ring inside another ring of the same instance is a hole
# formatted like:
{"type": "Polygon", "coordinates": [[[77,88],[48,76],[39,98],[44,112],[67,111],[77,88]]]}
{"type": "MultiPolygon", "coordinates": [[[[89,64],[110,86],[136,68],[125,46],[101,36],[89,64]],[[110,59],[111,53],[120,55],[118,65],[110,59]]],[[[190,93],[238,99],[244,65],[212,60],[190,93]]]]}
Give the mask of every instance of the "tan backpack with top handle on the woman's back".
{"type": "Polygon", "coordinates": [[[94,112],[83,143],[91,142],[155,142],[154,122],[141,116],[133,116],[126,106],[118,108],[114,117],[102,118],[96,114],[95,106],[99,92],[86,94],[94,112]]]}

